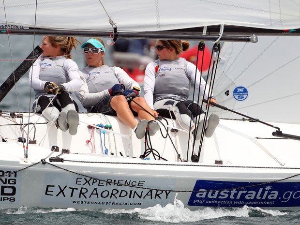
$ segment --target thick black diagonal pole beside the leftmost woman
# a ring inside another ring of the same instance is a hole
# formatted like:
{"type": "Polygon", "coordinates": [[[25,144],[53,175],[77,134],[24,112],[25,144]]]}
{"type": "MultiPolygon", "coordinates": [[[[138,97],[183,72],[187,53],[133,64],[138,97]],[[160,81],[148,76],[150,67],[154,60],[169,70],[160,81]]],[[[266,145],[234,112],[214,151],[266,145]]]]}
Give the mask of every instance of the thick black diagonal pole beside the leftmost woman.
{"type": "Polygon", "coordinates": [[[7,93],[14,87],[15,83],[30,69],[33,62],[42,54],[43,49],[36,46],[29,56],[24,60],[15,71],[0,86],[0,102],[7,93]]]}

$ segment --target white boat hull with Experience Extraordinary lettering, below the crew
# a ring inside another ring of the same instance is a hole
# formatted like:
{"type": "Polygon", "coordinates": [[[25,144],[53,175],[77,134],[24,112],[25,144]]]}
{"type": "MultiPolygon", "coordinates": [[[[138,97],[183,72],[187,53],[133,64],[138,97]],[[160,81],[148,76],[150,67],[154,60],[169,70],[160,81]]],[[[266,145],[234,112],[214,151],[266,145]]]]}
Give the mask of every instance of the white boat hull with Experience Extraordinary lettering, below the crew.
{"type": "MultiPolygon", "coordinates": [[[[39,115],[32,116],[30,121],[45,122],[38,118],[39,115]]],[[[7,118],[0,120],[2,125],[13,123],[7,118]]],[[[290,132],[299,128],[282,125],[290,132]]],[[[115,117],[104,119],[98,114],[80,114],[78,133],[73,137],[54,125],[35,126],[37,144],[28,145],[27,160],[23,143],[12,140],[13,135],[16,138],[20,134],[19,126],[0,126],[0,134],[7,140],[0,142],[1,208],[134,209],[165,206],[175,197],[191,210],[244,205],[282,210],[300,208],[300,143],[253,139],[254,135],[269,137],[272,132],[259,123],[221,120],[215,134],[205,139],[198,163],[190,162],[191,150],[186,157],[188,133],[183,131],[170,132],[170,138],[181,159],[187,158],[189,162],[178,160],[171,142],[159,133],[150,138],[152,149],[167,161],[155,160],[151,154],[140,159],[144,140],[135,135],[121,136],[120,133],[130,135],[131,129],[115,117]],[[87,125],[105,124],[107,119],[115,133],[106,131],[108,151],[102,154],[102,130],[94,130],[94,138],[90,139],[92,130],[87,125]],[[87,140],[95,143],[95,149],[91,150],[91,142],[87,140]],[[52,146],[58,146],[60,151],[51,151],[52,146]],[[62,154],[62,149],[70,153],[62,154]]],[[[30,128],[32,137],[34,129],[30,128]]],[[[27,129],[26,126],[26,132],[27,129]]],[[[198,143],[195,150],[198,153],[198,143]]]]}

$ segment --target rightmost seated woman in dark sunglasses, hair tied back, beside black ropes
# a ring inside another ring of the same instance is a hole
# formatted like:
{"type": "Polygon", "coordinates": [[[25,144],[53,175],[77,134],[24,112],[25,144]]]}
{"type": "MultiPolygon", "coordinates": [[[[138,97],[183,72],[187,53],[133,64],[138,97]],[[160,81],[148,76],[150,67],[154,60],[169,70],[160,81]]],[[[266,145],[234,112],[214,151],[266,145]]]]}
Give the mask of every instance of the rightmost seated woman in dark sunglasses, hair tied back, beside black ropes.
{"type": "MultiPolygon", "coordinates": [[[[179,57],[180,53],[186,51],[189,46],[187,41],[157,40],[156,53],[159,59],[149,63],[146,68],[144,97],[153,109],[153,113],[159,113],[167,118],[171,116],[173,119],[176,118],[183,129],[191,129],[193,132],[196,128],[195,123],[198,123],[195,139],[199,140],[205,114],[198,104],[188,100],[191,83],[195,81],[196,70],[198,79],[196,79],[195,88],[200,88],[200,92],[204,94],[208,102],[216,103],[216,100],[213,95],[209,98],[209,86],[202,77],[200,81],[200,72],[196,66],[179,57]]],[[[219,117],[211,114],[206,123],[205,136],[210,137],[218,124],[219,117]]]]}

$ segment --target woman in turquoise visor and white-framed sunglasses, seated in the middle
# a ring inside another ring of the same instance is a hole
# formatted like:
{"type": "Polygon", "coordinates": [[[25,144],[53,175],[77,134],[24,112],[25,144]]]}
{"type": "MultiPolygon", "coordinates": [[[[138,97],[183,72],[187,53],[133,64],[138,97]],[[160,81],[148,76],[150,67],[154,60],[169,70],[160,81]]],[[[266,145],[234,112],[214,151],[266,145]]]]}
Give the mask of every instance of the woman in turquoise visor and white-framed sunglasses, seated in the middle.
{"type": "Polygon", "coordinates": [[[150,107],[143,97],[139,97],[138,83],[120,67],[104,65],[104,42],[100,38],[90,38],[81,47],[88,64],[80,70],[82,87],[75,92],[81,104],[88,112],[117,115],[120,121],[135,131],[138,139],[145,136],[147,126],[149,134],[154,135],[160,126],[144,110],[150,110],[150,107]],[[139,122],[135,116],[138,116],[139,122]]]}

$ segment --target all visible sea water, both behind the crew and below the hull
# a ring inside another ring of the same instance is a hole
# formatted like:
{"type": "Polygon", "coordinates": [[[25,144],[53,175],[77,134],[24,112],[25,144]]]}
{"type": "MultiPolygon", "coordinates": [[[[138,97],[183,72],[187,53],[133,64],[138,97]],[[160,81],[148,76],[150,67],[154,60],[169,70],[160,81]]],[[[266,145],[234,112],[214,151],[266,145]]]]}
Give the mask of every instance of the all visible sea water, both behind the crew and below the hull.
{"type": "MultiPolygon", "coordinates": [[[[39,45],[42,37],[26,35],[0,34],[0,83],[18,67],[32,49],[39,45]]],[[[84,42],[86,38],[78,37],[84,42]]],[[[109,42],[109,39],[105,39],[109,42]]],[[[109,48],[107,48],[109,49],[109,48]]],[[[79,68],[85,66],[83,54],[73,58],[79,68]]],[[[107,51],[105,63],[112,65],[110,51],[107,51]]],[[[12,90],[0,102],[2,111],[31,111],[34,100],[29,85],[28,72],[16,83],[12,90]]],[[[75,101],[76,98],[75,98],[75,101]]],[[[79,110],[85,109],[79,105],[79,110]]],[[[0,206],[1,209],[1,206],[0,206]]],[[[244,206],[243,208],[204,208],[191,211],[180,201],[165,207],[156,205],[147,209],[135,210],[76,210],[41,209],[20,206],[17,209],[0,210],[0,225],[299,225],[299,211],[264,210],[244,206]]]]}

